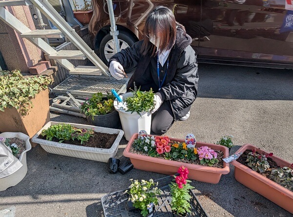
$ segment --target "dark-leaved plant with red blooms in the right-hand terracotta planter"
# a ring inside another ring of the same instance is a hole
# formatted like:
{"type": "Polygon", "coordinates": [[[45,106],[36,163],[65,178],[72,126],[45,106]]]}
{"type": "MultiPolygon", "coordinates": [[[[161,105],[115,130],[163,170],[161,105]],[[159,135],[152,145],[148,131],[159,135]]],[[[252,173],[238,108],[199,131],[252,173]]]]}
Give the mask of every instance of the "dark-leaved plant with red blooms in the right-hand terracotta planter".
{"type": "Polygon", "coordinates": [[[264,173],[270,168],[267,156],[256,153],[255,149],[249,152],[246,159],[247,165],[255,172],[264,173]]]}

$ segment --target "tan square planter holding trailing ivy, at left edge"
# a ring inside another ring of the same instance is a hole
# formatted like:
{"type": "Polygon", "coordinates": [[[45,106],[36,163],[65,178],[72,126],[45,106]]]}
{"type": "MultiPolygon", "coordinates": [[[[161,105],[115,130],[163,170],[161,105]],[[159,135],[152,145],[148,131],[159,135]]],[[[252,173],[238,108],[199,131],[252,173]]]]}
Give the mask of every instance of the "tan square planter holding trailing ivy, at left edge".
{"type": "MultiPolygon", "coordinates": [[[[32,99],[34,108],[21,116],[20,109],[6,108],[0,111],[1,132],[22,132],[32,138],[47,122],[50,121],[48,89],[42,90],[32,99]]],[[[32,144],[35,147],[36,144],[32,144]]]]}

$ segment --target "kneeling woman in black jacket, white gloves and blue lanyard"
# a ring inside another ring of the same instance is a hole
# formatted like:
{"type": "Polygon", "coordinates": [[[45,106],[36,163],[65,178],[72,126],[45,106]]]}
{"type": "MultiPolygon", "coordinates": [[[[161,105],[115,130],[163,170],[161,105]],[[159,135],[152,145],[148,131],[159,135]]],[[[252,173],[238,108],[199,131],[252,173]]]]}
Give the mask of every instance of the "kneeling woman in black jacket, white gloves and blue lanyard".
{"type": "Polygon", "coordinates": [[[163,134],[175,120],[186,120],[197,96],[197,59],[191,38],[172,11],[158,6],[146,19],[144,40],[121,50],[109,60],[111,75],[120,80],[124,69],[136,70],[127,90],[150,88],[156,93],[151,130],[163,134]]]}

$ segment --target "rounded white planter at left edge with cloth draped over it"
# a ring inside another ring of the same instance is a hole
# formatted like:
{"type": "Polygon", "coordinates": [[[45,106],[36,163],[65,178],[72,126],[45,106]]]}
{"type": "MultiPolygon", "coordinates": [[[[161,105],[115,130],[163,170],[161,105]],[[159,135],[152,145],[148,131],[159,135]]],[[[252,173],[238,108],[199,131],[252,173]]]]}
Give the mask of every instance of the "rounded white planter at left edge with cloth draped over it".
{"type": "MultiPolygon", "coordinates": [[[[10,174],[4,178],[0,178],[0,191],[5,191],[7,188],[17,185],[26,175],[27,173],[27,165],[26,165],[26,152],[31,150],[32,146],[29,142],[29,136],[25,135],[21,132],[3,132],[0,134],[1,137],[5,138],[20,138],[25,141],[25,148],[26,150],[21,153],[19,161],[21,161],[22,167],[14,172],[13,174],[10,174]]],[[[14,157],[14,160],[17,160],[16,157],[14,157]]]]}

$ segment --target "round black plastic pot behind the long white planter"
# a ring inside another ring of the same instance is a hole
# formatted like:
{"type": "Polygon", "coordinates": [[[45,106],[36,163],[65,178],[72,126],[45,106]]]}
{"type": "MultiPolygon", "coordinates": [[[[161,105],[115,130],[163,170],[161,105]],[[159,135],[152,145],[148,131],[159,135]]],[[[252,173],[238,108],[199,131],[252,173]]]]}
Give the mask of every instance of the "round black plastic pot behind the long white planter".
{"type": "Polygon", "coordinates": [[[119,113],[116,110],[109,114],[94,115],[94,120],[92,116],[88,116],[86,119],[91,125],[98,127],[119,129],[121,126],[119,113]]]}

